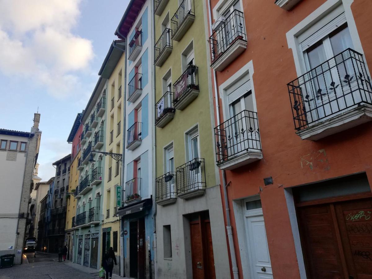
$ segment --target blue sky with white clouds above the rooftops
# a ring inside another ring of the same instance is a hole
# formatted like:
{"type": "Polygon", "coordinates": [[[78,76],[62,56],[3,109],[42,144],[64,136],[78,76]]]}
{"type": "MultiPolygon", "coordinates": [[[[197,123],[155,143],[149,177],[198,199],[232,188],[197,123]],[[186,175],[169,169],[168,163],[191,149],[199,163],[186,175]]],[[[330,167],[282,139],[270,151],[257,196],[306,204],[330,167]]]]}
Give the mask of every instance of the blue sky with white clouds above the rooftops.
{"type": "Polygon", "coordinates": [[[39,109],[39,176],[71,153],[85,108],[129,0],[0,0],[0,128],[30,131],[39,109]]]}

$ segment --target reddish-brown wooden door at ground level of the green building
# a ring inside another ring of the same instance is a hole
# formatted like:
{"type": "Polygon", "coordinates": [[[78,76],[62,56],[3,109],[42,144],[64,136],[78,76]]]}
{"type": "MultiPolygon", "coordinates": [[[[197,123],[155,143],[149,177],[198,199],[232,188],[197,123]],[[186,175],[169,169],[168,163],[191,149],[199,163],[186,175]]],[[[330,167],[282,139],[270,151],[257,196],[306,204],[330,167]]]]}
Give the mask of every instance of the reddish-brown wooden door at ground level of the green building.
{"type": "Polygon", "coordinates": [[[211,223],[208,214],[190,221],[193,279],[215,279],[211,223]]]}

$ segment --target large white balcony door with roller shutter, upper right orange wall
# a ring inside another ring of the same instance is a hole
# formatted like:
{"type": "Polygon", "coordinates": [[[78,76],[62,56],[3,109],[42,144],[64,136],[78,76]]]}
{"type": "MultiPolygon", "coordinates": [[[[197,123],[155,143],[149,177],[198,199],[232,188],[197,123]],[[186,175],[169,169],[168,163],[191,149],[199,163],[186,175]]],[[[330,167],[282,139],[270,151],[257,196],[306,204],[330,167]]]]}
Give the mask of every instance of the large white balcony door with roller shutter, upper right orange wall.
{"type": "Polygon", "coordinates": [[[349,53],[339,55],[347,48],[353,49],[344,13],[301,42],[300,47],[306,70],[310,71],[305,76],[306,85],[301,88],[308,119],[333,116],[361,101],[359,90],[356,90],[355,71],[358,70],[353,69],[357,65],[352,64],[349,53]]]}

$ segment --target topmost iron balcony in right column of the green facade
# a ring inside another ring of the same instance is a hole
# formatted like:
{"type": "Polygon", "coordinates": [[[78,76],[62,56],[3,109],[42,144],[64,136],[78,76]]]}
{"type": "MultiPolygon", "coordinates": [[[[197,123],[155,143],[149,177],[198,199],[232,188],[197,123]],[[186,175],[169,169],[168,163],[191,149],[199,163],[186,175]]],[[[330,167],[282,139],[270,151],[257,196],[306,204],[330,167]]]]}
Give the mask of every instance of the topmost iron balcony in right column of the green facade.
{"type": "Polygon", "coordinates": [[[181,41],[183,35],[189,30],[194,20],[194,1],[183,0],[170,21],[173,30],[172,39],[174,41],[181,41]]]}

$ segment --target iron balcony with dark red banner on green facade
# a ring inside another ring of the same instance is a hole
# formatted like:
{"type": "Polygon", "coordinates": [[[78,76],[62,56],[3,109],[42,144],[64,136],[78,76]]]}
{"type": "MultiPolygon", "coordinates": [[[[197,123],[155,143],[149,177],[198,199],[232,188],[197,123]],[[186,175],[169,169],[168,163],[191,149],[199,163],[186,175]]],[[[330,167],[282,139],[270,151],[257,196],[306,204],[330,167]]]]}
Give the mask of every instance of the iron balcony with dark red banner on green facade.
{"type": "Polygon", "coordinates": [[[186,70],[173,85],[174,108],[183,110],[199,95],[198,67],[188,65],[186,70]]]}

